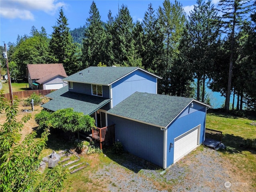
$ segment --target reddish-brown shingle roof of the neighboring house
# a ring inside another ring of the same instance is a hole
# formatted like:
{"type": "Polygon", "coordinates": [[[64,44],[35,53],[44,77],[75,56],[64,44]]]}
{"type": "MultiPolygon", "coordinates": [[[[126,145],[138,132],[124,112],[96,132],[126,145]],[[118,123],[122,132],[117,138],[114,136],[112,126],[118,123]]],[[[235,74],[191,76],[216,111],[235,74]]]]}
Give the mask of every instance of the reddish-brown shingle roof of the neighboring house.
{"type": "Polygon", "coordinates": [[[49,75],[61,75],[66,77],[67,74],[61,63],[57,64],[28,64],[28,72],[31,79],[41,79],[49,75]]]}

